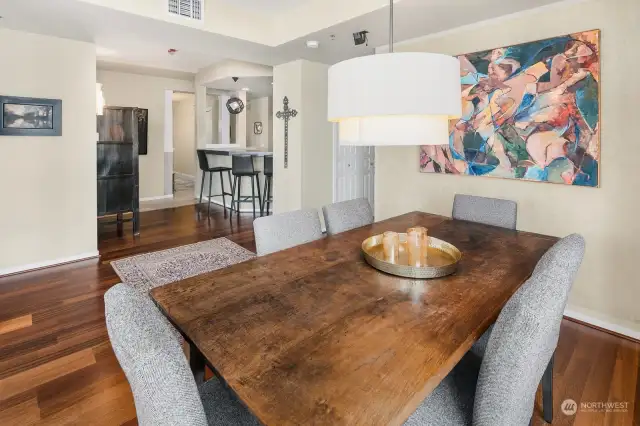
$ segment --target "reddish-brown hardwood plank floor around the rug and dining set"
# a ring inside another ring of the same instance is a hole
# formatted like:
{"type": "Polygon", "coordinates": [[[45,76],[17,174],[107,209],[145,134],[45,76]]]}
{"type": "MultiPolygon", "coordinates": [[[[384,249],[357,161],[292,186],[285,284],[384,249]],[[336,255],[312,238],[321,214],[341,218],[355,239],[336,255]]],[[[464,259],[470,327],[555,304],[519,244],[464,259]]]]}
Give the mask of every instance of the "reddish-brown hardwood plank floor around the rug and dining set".
{"type": "MultiPolygon", "coordinates": [[[[0,278],[0,425],[135,425],[129,385],[104,325],[111,260],[226,236],[255,251],[253,218],[196,206],[142,213],[141,237],[101,226],[101,259],[0,278]]],[[[554,425],[640,425],[640,344],[563,321],[554,370],[554,425]],[[578,404],[567,416],[566,399],[578,404]],[[581,403],[627,402],[626,412],[581,403]]],[[[540,398],[534,425],[541,418],[540,398]]]]}

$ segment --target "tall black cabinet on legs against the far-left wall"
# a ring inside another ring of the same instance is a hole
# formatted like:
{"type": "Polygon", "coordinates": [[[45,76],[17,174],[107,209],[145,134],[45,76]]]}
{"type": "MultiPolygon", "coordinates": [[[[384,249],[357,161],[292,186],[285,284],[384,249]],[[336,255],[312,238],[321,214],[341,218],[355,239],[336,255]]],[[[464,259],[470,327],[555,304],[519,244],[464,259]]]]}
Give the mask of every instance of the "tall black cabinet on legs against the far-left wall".
{"type": "Polygon", "coordinates": [[[132,213],[140,234],[138,108],[105,107],[98,116],[98,217],[115,215],[118,230],[132,213]]]}

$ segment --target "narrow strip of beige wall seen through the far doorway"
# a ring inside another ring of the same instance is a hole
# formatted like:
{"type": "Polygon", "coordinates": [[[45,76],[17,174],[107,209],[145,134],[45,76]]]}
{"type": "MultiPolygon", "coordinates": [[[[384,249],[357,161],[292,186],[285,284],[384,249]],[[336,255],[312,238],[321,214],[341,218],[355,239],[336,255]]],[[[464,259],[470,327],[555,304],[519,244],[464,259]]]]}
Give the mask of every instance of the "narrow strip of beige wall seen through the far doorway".
{"type": "Polygon", "coordinates": [[[173,171],[196,175],[196,99],[173,102],[173,171]]]}

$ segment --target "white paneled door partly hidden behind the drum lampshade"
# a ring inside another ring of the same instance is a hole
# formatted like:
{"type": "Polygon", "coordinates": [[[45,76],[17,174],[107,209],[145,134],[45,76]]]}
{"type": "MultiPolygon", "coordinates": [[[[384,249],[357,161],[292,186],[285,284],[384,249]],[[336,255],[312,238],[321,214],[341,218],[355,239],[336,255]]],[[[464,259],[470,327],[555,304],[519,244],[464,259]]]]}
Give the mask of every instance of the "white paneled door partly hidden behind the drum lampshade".
{"type": "Polygon", "coordinates": [[[367,198],[374,206],[375,147],[341,146],[338,140],[338,125],[334,139],[334,202],[367,198]]]}

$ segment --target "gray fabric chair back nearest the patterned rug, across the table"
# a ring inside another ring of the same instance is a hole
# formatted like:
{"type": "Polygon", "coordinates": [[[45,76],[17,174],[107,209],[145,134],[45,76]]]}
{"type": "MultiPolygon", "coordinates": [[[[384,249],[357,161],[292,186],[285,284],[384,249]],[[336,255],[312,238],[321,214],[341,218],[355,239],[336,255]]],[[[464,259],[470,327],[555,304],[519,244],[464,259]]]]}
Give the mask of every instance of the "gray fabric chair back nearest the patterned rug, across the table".
{"type": "Polygon", "coordinates": [[[296,210],[253,221],[258,256],[265,256],[322,238],[315,209],[296,210]]]}

